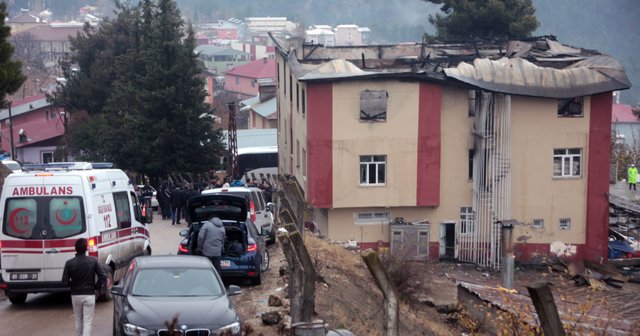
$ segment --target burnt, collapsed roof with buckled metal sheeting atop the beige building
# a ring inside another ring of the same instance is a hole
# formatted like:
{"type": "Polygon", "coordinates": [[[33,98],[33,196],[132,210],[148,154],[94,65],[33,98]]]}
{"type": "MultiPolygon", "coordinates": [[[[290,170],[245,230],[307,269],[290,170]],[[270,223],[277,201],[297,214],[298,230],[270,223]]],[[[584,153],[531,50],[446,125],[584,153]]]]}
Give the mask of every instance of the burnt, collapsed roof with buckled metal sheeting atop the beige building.
{"type": "Polygon", "coordinates": [[[547,98],[631,87],[624,67],[613,57],[563,45],[552,36],[375,46],[323,46],[272,39],[300,81],[405,78],[547,98]]]}

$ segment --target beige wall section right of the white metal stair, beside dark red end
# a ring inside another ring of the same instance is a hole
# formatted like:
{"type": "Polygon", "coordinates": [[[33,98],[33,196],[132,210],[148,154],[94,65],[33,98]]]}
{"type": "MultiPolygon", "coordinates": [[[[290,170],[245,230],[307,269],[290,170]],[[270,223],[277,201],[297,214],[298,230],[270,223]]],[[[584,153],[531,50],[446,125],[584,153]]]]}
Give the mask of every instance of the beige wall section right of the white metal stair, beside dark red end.
{"type": "Polygon", "coordinates": [[[527,224],[516,227],[514,237],[530,237],[528,243],[584,243],[589,97],[584,117],[574,118],[558,117],[555,99],[514,96],[511,104],[512,215],[527,224]],[[553,177],[553,150],[560,148],[582,149],[581,177],[553,177]],[[571,219],[569,230],[560,230],[560,218],[571,219]],[[543,219],[544,227],[533,229],[533,219],[543,219]]]}

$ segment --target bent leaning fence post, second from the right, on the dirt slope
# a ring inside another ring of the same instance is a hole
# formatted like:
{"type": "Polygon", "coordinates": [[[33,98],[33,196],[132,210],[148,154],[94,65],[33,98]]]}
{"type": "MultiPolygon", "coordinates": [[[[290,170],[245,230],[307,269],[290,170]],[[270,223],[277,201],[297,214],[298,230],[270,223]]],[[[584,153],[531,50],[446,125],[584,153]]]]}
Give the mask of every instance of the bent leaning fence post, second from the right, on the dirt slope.
{"type": "Polygon", "coordinates": [[[367,264],[369,272],[373,275],[376,285],[384,295],[384,330],[386,336],[398,336],[400,332],[400,324],[398,323],[398,315],[400,311],[398,292],[389,279],[389,275],[384,270],[378,254],[372,249],[364,250],[360,256],[367,264]]]}

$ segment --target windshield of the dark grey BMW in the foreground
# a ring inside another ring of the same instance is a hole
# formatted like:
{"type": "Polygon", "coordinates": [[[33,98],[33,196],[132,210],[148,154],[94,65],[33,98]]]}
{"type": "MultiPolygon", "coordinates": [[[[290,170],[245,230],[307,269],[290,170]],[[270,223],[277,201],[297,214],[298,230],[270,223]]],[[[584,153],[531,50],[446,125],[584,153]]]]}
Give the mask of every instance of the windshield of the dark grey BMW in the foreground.
{"type": "Polygon", "coordinates": [[[137,272],[131,295],[135,296],[219,296],[220,283],[213,269],[153,268],[137,272]]]}

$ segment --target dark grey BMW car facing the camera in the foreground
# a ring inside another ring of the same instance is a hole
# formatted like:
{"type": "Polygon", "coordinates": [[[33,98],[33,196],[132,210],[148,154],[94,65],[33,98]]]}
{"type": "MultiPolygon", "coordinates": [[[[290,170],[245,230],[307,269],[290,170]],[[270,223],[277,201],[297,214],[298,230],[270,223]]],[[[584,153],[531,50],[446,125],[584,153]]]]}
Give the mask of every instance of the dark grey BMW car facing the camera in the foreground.
{"type": "Polygon", "coordinates": [[[113,335],[241,335],[241,321],[211,262],[198,256],[144,256],[114,286],[113,335]],[[165,321],[177,316],[175,331],[165,321]]]}

